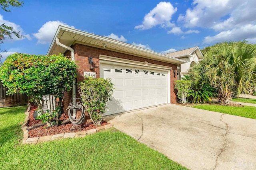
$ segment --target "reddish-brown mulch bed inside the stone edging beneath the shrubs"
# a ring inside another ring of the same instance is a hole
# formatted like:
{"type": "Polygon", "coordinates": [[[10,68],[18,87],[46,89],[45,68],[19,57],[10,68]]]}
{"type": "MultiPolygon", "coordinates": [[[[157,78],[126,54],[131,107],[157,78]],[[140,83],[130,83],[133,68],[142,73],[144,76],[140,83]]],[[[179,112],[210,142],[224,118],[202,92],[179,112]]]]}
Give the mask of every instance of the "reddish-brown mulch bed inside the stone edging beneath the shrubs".
{"type": "MultiPolygon", "coordinates": [[[[30,114],[29,114],[29,120],[28,120],[28,127],[35,125],[37,123],[41,123],[41,120],[35,120],[34,119],[34,111],[38,109],[38,106],[35,106],[31,104],[30,108],[30,114]]],[[[60,121],[63,121],[65,119],[68,119],[68,115],[62,114],[60,116],[60,121]]],[[[102,126],[107,125],[109,123],[106,123],[105,121],[102,121],[102,126]]],[[[48,135],[55,135],[59,133],[69,133],[69,132],[79,132],[79,131],[87,131],[90,129],[94,129],[96,126],[92,123],[83,123],[82,125],[73,125],[71,122],[64,124],[64,125],[59,125],[59,126],[54,126],[54,127],[47,127],[47,125],[37,127],[35,129],[32,129],[28,131],[29,137],[42,137],[42,136],[48,136],[48,135]]]]}

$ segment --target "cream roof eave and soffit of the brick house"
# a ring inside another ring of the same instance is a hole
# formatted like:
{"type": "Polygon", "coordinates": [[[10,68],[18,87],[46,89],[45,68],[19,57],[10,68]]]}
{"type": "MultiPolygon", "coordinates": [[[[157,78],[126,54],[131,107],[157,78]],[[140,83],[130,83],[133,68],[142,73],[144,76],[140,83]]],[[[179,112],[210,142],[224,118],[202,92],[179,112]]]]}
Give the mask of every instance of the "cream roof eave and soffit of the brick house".
{"type": "Polygon", "coordinates": [[[55,42],[56,38],[60,40],[60,43],[68,47],[78,43],[78,44],[102,48],[110,51],[126,53],[126,54],[143,57],[147,59],[163,61],[166,63],[173,63],[173,64],[188,63],[187,61],[184,61],[182,59],[170,57],[164,54],[157,53],[155,51],[151,51],[148,49],[137,47],[135,45],[117,41],[115,39],[110,39],[108,37],[87,33],[84,31],[80,31],[78,29],[73,29],[70,27],[62,26],[62,25],[59,25],[56,31],[54,38],[52,40],[52,43],[48,49],[47,55],[64,53],[66,51],[66,49],[56,44],[55,42]],[[106,46],[105,48],[104,48],[104,45],[106,46]]]}

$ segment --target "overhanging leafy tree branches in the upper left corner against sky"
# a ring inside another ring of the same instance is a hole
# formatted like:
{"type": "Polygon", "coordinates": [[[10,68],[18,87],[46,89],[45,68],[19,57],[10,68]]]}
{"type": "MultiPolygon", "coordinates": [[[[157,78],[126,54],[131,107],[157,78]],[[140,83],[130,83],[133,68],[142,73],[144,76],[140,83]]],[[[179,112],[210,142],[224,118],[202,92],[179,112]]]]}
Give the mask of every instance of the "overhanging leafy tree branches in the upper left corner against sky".
{"type": "MultiPolygon", "coordinates": [[[[24,4],[24,2],[18,0],[0,0],[0,8],[2,8],[6,12],[11,12],[11,10],[8,9],[10,6],[20,7],[22,6],[22,4],[24,4]]],[[[19,31],[15,31],[13,27],[2,23],[0,25],[0,44],[4,43],[3,40],[5,39],[6,36],[12,39],[12,34],[14,34],[19,39],[23,37],[23,35],[21,35],[19,31]]],[[[6,52],[6,50],[4,50],[4,52],[6,52]]],[[[0,64],[2,63],[1,58],[2,55],[0,55],[0,64]]]]}

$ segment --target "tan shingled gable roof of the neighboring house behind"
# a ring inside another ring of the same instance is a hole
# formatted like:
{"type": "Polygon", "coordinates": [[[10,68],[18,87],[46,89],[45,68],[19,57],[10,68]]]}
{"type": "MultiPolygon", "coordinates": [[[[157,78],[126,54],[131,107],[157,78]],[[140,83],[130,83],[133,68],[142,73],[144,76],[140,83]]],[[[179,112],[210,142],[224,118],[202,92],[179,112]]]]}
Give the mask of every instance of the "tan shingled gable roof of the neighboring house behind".
{"type": "Polygon", "coordinates": [[[180,51],[175,51],[172,53],[167,53],[165,55],[168,55],[170,57],[175,57],[175,58],[182,58],[182,57],[189,57],[189,56],[193,56],[192,53],[195,52],[196,55],[198,56],[198,59],[202,59],[203,55],[199,49],[199,47],[192,47],[189,49],[184,49],[184,50],[180,50],[180,51]]]}

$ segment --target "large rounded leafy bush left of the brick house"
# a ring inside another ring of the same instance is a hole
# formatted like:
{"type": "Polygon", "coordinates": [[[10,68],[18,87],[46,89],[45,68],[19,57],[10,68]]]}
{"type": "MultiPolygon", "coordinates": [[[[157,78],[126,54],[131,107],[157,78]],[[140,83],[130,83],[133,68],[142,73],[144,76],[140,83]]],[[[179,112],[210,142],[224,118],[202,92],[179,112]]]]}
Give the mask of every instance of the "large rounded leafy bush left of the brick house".
{"type": "MultiPolygon", "coordinates": [[[[76,64],[64,55],[28,55],[15,53],[0,67],[0,80],[7,94],[32,96],[42,112],[43,96],[53,95],[62,101],[76,78],[76,64]]],[[[58,115],[58,114],[57,114],[58,115]]]]}

